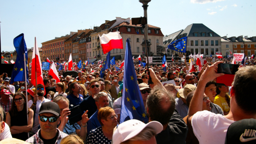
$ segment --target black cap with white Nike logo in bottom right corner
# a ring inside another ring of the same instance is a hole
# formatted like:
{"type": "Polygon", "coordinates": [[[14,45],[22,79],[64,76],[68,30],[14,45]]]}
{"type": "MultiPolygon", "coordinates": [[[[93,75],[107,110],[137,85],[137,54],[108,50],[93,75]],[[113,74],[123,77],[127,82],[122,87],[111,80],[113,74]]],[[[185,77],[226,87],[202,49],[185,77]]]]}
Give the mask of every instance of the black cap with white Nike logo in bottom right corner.
{"type": "Polygon", "coordinates": [[[256,120],[244,119],[231,124],[225,144],[256,144],[256,120]]]}

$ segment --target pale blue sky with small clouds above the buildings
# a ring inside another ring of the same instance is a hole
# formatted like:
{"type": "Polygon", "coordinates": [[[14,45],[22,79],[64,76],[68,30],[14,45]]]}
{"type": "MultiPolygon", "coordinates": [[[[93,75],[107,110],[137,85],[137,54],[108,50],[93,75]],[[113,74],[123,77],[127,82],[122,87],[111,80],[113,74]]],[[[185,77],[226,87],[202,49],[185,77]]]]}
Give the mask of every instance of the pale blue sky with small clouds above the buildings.
{"type": "MultiPolygon", "coordinates": [[[[151,0],[148,24],[164,35],[203,23],[220,36],[256,36],[256,0],[151,0]]],[[[105,20],[144,16],[139,0],[1,0],[1,50],[13,51],[24,33],[27,48],[100,26],[105,20]]]]}

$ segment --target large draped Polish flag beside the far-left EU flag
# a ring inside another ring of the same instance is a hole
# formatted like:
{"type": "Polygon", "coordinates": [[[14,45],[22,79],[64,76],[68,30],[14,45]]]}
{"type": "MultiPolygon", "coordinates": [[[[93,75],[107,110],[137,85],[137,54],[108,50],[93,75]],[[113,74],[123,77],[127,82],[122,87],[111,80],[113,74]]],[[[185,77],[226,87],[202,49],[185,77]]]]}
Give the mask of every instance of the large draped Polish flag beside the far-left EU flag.
{"type": "MultiPolygon", "coordinates": [[[[42,65],[41,65],[40,54],[38,51],[36,38],[35,38],[35,45],[34,45],[33,54],[32,54],[31,83],[34,86],[38,84],[42,84],[44,86],[42,65]],[[37,83],[36,83],[36,79],[37,79],[37,83]]],[[[45,92],[45,89],[44,89],[44,92],[45,92]]]]}

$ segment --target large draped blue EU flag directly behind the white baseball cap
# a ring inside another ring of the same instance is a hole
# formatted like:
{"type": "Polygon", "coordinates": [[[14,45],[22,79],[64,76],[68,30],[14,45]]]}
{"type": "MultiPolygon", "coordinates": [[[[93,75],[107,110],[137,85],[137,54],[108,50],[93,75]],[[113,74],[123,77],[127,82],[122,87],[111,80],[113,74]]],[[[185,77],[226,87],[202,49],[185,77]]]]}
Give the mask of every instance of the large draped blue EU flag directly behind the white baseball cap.
{"type": "Polygon", "coordinates": [[[129,39],[126,40],[123,87],[120,124],[132,119],[140,120],[147,124],[148,118],[137,83],[129,39]]]}

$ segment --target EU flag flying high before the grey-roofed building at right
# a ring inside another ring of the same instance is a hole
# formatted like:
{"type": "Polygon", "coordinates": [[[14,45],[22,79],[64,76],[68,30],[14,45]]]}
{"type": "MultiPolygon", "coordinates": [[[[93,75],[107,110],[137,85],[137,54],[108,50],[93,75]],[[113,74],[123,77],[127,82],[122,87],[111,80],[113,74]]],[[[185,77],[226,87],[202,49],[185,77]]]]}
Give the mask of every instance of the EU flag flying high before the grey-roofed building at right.
{"type": "Polygon", "coordinates": [[[178,40],[175,40],[174,42],[170,43],[168,45],[168,48],[171,50],[175,50],[178,52],[186,52],[187,49],[187,36],[178,40]]]}

